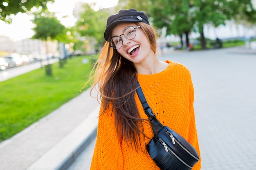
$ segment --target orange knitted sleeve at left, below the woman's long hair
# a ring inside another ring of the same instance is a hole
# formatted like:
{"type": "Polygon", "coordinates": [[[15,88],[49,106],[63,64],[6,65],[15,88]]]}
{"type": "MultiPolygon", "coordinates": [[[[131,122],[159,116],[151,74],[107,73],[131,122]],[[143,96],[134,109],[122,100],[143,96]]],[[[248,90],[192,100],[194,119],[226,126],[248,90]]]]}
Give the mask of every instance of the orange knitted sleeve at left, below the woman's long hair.
{"type": "Polygon", "coordinates": [[[101,115],[102,111],[101,106],[90,170],[121,170],[123,169],[123,156],[121,139],[118,139],[115,128],[115,116],[110,109],[106,109],[101,115]]]}

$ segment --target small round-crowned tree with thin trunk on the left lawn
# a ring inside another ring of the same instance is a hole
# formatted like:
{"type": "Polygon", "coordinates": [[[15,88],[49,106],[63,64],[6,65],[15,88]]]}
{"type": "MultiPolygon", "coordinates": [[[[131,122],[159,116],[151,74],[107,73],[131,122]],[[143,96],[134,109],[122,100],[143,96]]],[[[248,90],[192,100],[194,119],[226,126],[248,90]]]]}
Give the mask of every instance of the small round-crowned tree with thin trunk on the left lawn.
{"type": "MultiPolygon", "coordinates": [[[[39,39],[45,41],[46,55],[48,54],[48,40],[63,40],[67,37],[66,28],[61,22],[55,17],[54,13],[47,10],[37,11],[33,13],[34,20],[32,21],[36,26],[33,28],[35,35],[33,39],[39,39]]],[[[48,58],[48,57],[47,57],[48,58]]],[[[52,75],[50,64],[46,67],[46,74],[52,75]]]]}

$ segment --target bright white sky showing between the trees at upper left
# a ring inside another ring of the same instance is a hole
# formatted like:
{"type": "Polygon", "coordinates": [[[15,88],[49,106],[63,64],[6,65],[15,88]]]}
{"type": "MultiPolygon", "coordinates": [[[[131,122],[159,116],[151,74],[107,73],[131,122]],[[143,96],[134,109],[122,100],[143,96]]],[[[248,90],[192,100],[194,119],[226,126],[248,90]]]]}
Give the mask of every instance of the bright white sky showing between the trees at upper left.
{"type": "MultiPolygon", "coordinates": [[[[54,4],[49,4],[48,9],[51,12],[55,12],[57,18],[61,20],[61,23],[65,26],[74,26],[75,18],[72,15],[75,3],[78,1],[82,2],[96,2],[96,9],[99,7],[108,8],[117,5],[118,0],[55,0],[54,4]],[[67,15],[67,18],[62,18],[62,16],[67,15]]],[[[0,35],[7,36],[14,41],[22,40],[25,38],[31,38],[34,35],[32,28],[34,27],[31,22],[32,17],[25,13],[18,13],[17,15],[12,15],[12,24],[7,24],[0,20],[0,35]]]]}

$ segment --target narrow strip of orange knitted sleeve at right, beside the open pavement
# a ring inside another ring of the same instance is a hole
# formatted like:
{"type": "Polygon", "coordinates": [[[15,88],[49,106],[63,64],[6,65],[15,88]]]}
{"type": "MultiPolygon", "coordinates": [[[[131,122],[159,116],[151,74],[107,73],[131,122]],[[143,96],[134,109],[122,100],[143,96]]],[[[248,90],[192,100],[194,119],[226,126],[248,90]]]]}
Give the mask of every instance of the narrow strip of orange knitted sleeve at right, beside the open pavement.
{"type": "Polygon", "coordinates": [[[190,124],[189,124],[189,143],[194,146],[195,150],[197,150],[200,160],[193,166],[192,170],[199,170],[201,168],[201,156],[200,156],[200,149],[198,144],[198,135],[195,125],[195,112],[194,112],[194,88],[191,82],[189,88],[189,112],[190,112],[190,124]]]}

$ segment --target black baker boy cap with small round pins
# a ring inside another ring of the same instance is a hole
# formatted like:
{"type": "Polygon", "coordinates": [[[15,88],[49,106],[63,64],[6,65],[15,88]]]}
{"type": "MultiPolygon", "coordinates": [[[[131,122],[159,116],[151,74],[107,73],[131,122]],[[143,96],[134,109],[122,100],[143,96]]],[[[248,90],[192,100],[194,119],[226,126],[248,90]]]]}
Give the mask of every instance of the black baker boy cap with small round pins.
{"type": "Polygon", "coordinates": [[[108,41],[112,29],[120,22],[145,22],[149,24],[148,17],[144,12],[138,12],[136,9],[120,9],[118,13],[108,17],[107,26],[104,32],[104,38],[108,41]]]}

